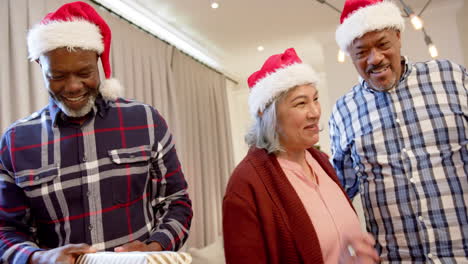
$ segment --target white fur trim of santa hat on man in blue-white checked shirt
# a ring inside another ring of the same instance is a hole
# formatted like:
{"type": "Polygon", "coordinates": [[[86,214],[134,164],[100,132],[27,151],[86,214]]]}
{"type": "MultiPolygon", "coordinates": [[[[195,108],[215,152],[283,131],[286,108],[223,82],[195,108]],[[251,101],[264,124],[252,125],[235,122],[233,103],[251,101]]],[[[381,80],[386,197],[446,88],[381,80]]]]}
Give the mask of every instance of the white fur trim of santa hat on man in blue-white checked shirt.
{"type": "Polygon", "coordinates": [[[336,42],[342,51],[348,53],[348,46],[354,39],[385,28],[395,28],[400,32],[405,29],[400,9],[390,1],[363,7],[350,14],[337,28],[336,42]]]}

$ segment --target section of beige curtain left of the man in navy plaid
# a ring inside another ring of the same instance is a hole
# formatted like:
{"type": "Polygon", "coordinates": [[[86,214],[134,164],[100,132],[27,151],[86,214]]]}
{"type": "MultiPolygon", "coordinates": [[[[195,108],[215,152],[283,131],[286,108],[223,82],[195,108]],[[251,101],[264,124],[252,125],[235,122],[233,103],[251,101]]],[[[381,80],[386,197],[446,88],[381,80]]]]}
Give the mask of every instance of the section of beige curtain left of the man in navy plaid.
{"type": "Polygon", "coordinates": [[[46,14],[48,1],[0,1],[0,131],[47,103],[36,63],[27,60],[26,33],[46,14]],[[40,84],[40,85],[38,85],[40,84]]]}

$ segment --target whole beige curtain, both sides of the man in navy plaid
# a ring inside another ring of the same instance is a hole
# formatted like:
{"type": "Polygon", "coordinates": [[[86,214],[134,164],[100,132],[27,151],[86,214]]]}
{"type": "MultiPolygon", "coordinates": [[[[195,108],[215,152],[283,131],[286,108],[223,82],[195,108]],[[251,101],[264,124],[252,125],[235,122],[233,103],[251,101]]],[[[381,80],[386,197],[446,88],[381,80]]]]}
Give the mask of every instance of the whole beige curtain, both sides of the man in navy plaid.
{"type": "MultiPolygon", "coordinates": [[[[0,131],[47,104],[40,68],[27,60],[26,34],[71,1],[0,0],[0,131]]],[[[221,204],[233,168],[226,78],[173,46],[97,8],[112,34],[113,76],[125,97],[150,104],[173,132],[194,218],[189,247],[221,235],[221,204]]]]}

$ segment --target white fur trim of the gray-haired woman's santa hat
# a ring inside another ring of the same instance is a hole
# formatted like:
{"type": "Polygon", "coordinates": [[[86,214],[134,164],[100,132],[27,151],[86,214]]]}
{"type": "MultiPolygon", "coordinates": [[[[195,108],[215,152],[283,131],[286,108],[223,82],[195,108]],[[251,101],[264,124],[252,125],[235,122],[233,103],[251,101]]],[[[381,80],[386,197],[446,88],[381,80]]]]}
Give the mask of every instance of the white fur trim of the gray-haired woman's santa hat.
{"type": "Polygon", "coordinates": [[[253,118],[263,112],[265,106],[281,92],[297,85],[318,83],[317,73],[307,64],[296,63],[276,70],[259,80],[249,94],[249,110],[253,118]]]}

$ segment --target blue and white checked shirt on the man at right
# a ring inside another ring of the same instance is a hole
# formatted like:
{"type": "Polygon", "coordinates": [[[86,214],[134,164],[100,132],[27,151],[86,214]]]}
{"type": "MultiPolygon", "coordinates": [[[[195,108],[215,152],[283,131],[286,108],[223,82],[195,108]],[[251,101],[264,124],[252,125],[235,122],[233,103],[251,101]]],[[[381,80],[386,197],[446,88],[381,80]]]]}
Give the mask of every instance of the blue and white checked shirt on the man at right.
{"type": "Polygon", "coordinates": [[[468,262],[468,75],[410,64],[396,89],[361,80],[332,112],[332,163],[362,195],[384,263],[468,262]]]}

